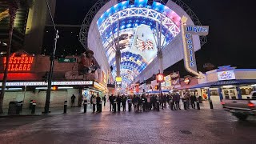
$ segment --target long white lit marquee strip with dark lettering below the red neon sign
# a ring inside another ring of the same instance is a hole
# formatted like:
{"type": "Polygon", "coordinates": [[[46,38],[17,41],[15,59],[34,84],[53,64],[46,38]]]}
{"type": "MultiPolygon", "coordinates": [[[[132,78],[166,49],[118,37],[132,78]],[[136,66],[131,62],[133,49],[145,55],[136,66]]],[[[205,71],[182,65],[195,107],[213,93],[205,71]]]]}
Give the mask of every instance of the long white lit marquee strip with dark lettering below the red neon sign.
{"type": "MultiPolygon", "coordinates": [[[[7,82],[6,86],[47,86],[47,82],[7,82]]],[[[93,85],[93,81],[52,82],[53,86],[93,85]]],[[[2,86],[2,82],[0,82],[2,86]]]]}

